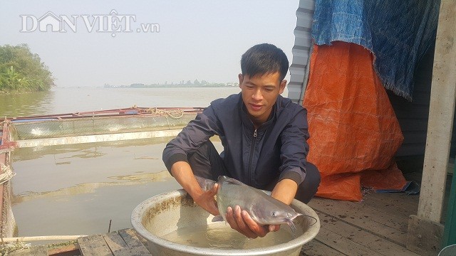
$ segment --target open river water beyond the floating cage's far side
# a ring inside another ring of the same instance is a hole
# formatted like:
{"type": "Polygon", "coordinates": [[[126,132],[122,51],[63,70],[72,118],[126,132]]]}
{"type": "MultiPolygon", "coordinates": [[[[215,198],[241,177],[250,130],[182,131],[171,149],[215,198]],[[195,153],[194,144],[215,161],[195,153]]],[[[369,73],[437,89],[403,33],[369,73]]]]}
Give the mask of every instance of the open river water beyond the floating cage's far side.
{"type": "Polygon", "coordinates": [[[54,87],[51,92],[0,94],[0,117],[63,114],[132,107],[207,107],[212,100],[239,92],[219,88],[54,87]]]}

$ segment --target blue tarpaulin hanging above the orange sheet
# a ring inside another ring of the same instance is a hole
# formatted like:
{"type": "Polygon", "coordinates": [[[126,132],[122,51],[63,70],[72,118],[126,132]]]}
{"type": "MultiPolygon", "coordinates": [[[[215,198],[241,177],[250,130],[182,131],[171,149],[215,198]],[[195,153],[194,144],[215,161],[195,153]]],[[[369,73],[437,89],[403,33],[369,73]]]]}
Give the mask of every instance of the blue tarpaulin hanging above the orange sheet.
{"type": "Polygon", "coordinates": [[[316,0],[317,45],[343,41],[374,54],[383,86],[413,98],[413,73],[435,41],[440,0],[316,0]]]}

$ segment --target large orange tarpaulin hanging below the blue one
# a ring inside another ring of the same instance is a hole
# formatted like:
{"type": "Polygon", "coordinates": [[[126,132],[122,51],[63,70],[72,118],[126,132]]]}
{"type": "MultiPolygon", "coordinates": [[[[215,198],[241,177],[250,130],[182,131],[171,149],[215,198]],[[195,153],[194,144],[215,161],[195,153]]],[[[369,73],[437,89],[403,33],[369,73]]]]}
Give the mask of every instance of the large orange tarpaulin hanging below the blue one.
{"type": "Polygon", "coordinates": [[[403,134],[372,63],[371,52],[353,43],[314,46],[304,107],[308,160],[321,172],[317,196],[361,201],[361,183],[405,186],[394,161],[403,134]]]}

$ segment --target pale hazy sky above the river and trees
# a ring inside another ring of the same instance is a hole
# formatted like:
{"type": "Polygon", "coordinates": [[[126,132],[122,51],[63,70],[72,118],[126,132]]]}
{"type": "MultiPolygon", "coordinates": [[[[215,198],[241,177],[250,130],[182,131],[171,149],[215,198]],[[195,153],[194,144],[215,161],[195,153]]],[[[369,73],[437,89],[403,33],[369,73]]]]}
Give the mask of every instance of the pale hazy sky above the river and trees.
{"type": "Polygon", "coordinates": [[[298,7],[299,0],[0,0],[0,45],[28,44],[58,87],[237,82],[242,53],[257,43],[273,43],[291,63],[298,7]],[[52,22],[59,27],[43,26],[52,22]]]}

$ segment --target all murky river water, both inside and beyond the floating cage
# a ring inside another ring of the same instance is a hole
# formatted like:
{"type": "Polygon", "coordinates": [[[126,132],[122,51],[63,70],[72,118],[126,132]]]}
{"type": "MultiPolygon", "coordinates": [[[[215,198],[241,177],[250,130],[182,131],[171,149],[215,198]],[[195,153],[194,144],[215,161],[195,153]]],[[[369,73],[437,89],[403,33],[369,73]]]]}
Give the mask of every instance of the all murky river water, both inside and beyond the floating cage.
{"type": "MultiPolygon", "coordinates": [[[[223,88],[53,88],[0,95],[0,116],[123,107],[206,107],[239,92],[223,88]]],[[[284,94],[286,96],[286,93],[284,94]]],[[[130,228],[135,206],[180,188],[162,163],[171,138],[15,149],[13,213],[20,236],[90,235],[130,228]]],[[[214,143],[220,149],[219,142],[214,143]]]]}

